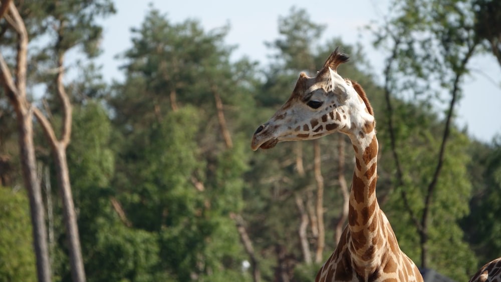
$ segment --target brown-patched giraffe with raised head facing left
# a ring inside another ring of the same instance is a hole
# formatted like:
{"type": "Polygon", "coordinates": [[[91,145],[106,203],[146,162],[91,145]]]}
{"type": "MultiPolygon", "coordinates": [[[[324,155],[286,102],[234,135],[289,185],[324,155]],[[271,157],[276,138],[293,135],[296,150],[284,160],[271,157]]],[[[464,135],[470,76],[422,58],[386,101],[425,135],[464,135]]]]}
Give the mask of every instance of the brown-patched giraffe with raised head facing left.
{"type": "Polygon", "coordinates": [[[400,250],[377,202],[376,121],[362,87],[337,73],[348,60],[337,48],[315,77],[301,73],[289,100],[258,127],[251,147],[269,149],[278,142],[334,132],[348,135],[356,158],[348,225],[316,281],[423,281],[414,262],[400,250]]]}

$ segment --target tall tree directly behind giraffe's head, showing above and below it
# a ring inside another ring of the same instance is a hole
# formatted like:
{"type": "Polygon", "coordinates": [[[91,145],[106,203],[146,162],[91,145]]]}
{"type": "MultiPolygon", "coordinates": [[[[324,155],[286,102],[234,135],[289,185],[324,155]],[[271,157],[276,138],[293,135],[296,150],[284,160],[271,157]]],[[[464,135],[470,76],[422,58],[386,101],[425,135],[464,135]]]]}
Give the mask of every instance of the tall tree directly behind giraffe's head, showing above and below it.
{"type": "MultiPolygon", "coordinates": [[[[301,71],[315,75],[316,68],[337,46],[342,46],[356,62],[343,66],[343,76],[358,80],[371,97],[377,95],[371,76],[359,71],[365,64],[360,49],[340,39],[320,42],[323,30],[302,9],[292,8],[289,15],[279,19],[280,38],[267,43],[274,53],[265,70],[263,87],[256,94],[258,123],[289,97],[301,71]]],[[[254,127],[257,125],[255,122],[254,127]]],[[[267,279],[311,279],[324,255],[331,253],[324,250],[335,248],[334,230],[342,230],[346,224],[342,216],[343,192],[337,189],[342,185],[339,179],[345,175],[340,176],[339,171],[352,173],[354,167],[353,162],[343,164],[339,159],[338,140],[346,142],[345,138],[330,137],[312,143],[286,142],[253,156],[247,181],[259,189],[247,192],[245,213],[260,215],[249,219],[248,229],[266,254],[262,273],[267,279]],[[344,170],[339,169],[340,161],[344,170]]]]}

